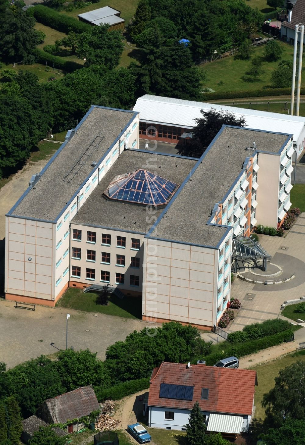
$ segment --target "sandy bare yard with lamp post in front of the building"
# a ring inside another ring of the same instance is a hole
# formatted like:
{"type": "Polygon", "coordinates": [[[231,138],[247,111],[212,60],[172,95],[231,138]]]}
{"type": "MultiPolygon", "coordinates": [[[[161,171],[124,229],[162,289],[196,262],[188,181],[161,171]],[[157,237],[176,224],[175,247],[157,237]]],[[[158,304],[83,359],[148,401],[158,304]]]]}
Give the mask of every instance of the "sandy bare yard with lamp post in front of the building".
{"type": "Polygon", "coordinates": [[[81,312],[73,309],[36,306],[36,311],[16,309],[10,301],[0,301],[0,361],[12,368],[41,354],[49,355],[65,349],[66,314],[68,347],[88,348],[105,358],[106,348],[118,340],[125,340],[134,330],[140,331],[154,324],[122,317],[81,312]],[[42,340],[42,341],[41,341],[42,340]],[[52,346],[51,343],[54,343],[52,346]]]}

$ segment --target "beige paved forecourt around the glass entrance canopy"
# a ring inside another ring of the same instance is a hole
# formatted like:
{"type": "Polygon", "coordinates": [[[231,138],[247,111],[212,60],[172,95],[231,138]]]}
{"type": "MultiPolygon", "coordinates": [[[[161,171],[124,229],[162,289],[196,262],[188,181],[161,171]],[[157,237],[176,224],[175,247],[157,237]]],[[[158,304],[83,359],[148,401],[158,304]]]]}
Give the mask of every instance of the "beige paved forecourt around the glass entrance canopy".
{"type": "Polygon", "coordinates": [[[279,264],[283,269],[282,275],[275,279],[292,274],[295,278],[287,283],[267,286],[236,278],[231,287],[231,298],[238,298],[242,307],[230,331],[240,330],[246,324],[276,318],[281,313],[283,301],[305,295],[305,213],[297,218],[286,238],[260,235],[259,242],[272,255],[271,263],[279,264]]]}

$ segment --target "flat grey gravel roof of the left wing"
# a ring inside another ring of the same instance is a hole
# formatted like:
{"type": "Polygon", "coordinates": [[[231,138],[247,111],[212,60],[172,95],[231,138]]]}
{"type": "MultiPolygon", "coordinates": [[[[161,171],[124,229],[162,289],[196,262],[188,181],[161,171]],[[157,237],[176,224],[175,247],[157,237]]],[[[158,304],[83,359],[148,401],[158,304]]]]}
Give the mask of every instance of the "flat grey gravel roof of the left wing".
{"type": "Polygon", "coordinates": [[[53,221],[94,170],[92,162],[102,158],[135,114],[94,107],[12,214],[53,221]],[[78,160],[81,168],[73,170],[78,160]],[[71,170],[78,170],[74,177],[71,170]]]}

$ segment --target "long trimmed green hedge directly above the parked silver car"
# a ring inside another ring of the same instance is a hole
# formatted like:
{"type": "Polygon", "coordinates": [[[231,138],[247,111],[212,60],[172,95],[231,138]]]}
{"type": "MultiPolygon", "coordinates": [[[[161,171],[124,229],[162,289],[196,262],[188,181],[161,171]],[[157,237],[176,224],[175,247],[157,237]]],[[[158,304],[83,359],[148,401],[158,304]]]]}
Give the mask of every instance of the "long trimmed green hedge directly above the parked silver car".
{"type": "MultiPolygon", "coordinates": [[[[260,338],[258,340],[245,341],[244,343],[230,344],[230,343],[220,343],[215,346],[214,353],[204,357],[207,366],[213,366],[218,362],[218,360],[224,357],[235,356],[237,358],[248,356],[249,354],[254,354],[262,349],[271,348],[277,344],[287,342],[291,340],[293,332],[291,329],[279,332],[272,336],[260,338]]],[[[201,357],[202,359],[202,357],[201,357]]]]}

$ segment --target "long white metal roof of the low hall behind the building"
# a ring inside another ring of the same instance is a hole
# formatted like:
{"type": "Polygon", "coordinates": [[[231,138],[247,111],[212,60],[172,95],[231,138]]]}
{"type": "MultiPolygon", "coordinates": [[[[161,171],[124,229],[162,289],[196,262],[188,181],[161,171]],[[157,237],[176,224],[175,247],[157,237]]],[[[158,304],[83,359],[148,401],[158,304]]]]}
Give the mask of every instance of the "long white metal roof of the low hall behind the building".
{"type": "Polygon", "coordinates": [[[211,108],[228,110],[238,117],[244,115],[246,126],[252,129],[293,134],[295,141],[305,126],[305,117],[302,116],[269,113],[268,111],[249,110],[207,102],[184,101],[172,97],[150,96],[149,94],[139,97],[134,105],[134,111],[140,113],[141,121],[167,123],[188,128],[194,127],[195,119],[202,117],[202,109],[208,111],[211,108]]]}

